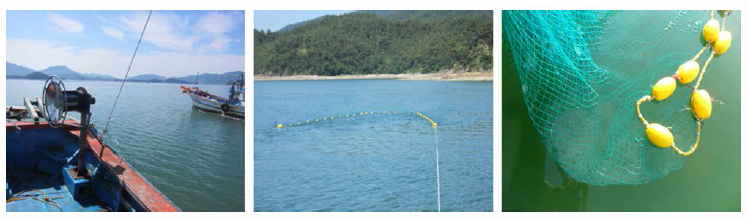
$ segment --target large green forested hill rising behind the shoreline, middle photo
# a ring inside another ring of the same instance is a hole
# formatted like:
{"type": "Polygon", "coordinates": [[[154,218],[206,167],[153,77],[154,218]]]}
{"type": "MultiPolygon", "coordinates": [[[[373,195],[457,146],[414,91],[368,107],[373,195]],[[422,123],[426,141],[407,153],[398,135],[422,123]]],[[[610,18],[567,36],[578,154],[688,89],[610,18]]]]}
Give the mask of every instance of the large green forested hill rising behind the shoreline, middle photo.
{"type": "Polygon", "coordinates": [[[357,11],[254,30],[255,75],[492,70],[492,11],[357,11]]]}

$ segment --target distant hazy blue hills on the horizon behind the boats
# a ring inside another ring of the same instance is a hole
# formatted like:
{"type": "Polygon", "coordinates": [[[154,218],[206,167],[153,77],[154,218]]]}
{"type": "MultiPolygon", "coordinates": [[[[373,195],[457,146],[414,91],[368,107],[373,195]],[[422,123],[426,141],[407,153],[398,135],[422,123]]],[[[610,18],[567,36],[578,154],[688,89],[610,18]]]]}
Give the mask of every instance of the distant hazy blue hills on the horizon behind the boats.
{"type": "MultiPolygon", "coordinates": [[[[79,73],[67,66],[51,66],[40,71],[35,71],[31,68],[6,61],[5,70],[6,79],[46,79],[46,76],[57,75],[63,80],[122,81],[122,79],[104,74],[79,73]]],[[[198,83],[220,85],[231,84],[232,81],[238,79],[238,75],[242,74],[244,74],[243,71],[227,72],[223,74],[201,73],[198,83]]],[[[157,74],[131,75],[128,77],[128,82],[193,84],[195,83],[195,75],[171,78],[157,74]]]]}

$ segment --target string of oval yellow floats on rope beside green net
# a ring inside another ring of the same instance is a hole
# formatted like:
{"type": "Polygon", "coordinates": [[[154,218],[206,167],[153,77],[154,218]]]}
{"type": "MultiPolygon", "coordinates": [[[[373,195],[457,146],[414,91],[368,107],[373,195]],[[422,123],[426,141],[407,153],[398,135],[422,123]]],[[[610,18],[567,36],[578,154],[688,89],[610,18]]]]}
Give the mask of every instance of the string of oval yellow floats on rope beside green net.
{"type": "Polygon", "coordinates": [[[637,101],[635,105],[637,116],[646,127],[645,135],[655,146],[662,148],[671,147],[677,153],[679,153],[679,155],[682,156],[689,156],[697,149],[697,145],[700,140],[702,120],[709,118],[713,109],[712,98],[710,98],[707,90],[699,89],[699,86],[700,82],[702,81],[702,76],[705,74],[705,70],[707,69],[707,65],[710,64],[710,61],[712,61],[715,54],[723,54],[731,46],[731,32],[725,30],[726,17],[728,17],[728,14],[730,12],[730,10],[723,11],[723,29],[720,29],[721,24],[717,19],[714,18],[715,12],[710,11],[710,21],[708,21],[705,24],[705,27],[702,29],[702,34],[707,44],[705,44],[702,50],[700,50],[700,52],[697,53],[694,58],[679,66],[679,69],[673,76],[667,76],[662,78],[661,80],[658,80],[655,86],[653,86],[652,94],[646,95],[637,101]],[[676,89],[677,79],[682,84],[688,84],[692,82],[697,77],[697,73],[700,69],[700,64],[697,63],[697,59],[709,46],[712,46],[712,52],[710,53],[710,57],[707,58],[707,61],[705,61],[705,66],[702,67],[702,72],[699,74],[697,83],[694,85],[694,92],[692,93],[691,106],[692,113],[694,114],[695,121],[697,123],[697,138],[695,138],[692,148],[689,151],[684,152],[676,147],[676,144],[674,143],[674,136],[671,134],[671,131],[667,127],[658,123],[648,123],[648,121],[645,120],[645,118],[640,113],[640,104],[645,101],[651,101],[653,99],[662,101],[668,98],[671,94],[674,93],[674,90],[676,89]]]}

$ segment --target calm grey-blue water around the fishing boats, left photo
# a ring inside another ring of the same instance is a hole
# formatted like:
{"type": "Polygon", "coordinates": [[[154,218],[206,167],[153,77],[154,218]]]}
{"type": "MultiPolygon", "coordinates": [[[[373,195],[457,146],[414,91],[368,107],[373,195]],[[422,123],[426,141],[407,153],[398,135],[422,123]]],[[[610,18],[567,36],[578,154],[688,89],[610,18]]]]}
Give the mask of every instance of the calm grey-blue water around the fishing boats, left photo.
{"type": "MultiPolygon", "coordinates": [[[[44,81],[7,80],[6,104],[42,96],[44,81]]],[[[119,82],[65,81],[96,98],[92,123],[101,129],[119,82]]],[[[201,85],[228,94],[228,86],[201,85]]],[[[80,114],[71,112],[76,118],[80,114]]],[[[192,108],[178,84],[127,83],[109,124],[113,149],[183,211],[244,211],[244,122],[192,108]]]]}

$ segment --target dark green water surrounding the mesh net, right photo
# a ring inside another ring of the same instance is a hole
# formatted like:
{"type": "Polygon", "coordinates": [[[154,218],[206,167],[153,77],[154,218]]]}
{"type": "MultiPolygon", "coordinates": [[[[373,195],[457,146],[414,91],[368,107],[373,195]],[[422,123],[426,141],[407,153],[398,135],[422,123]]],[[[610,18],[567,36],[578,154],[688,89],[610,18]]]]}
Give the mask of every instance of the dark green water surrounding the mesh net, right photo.
{"type": "MultiPolygon", "coordinates": [[[[633,12],[624,12],[622,15],[626,15],[625,13],[633,12]]],[[[665,22],[650,21],[673,18],[677,12],[641,14],[646,16],[634,16],[624,22],[643,27],[653,24],[662,25],[668,20],[665,22]],[[647,18],[663,19],[648,20],[647,18]]],[[[688,12],[685,17],[690,16],[709,18],[709,13],[688,12]]],[[[703,127],[699,149],[695,154],[686,158],[686,163],[681,169],[662,179],[641,185],[590,186],[568,179],[564,171],[558,169],[530,121],[512,53],[508,52],[507,45],[503,44],[502,210],[740,211],[741,31],[738,22],[740,19],[741,13],[735,11],[726,21],[727,29],[733,34],[731,49],[710,64],[705,80],[700,86],[700,88],[707,88],[714,98],[724,104],[713,104],[713,114],[706,120],[703,127]]],[[[686,47],[678,50],[696,53],[701,48],[697,44],[699,42],[697,36],[700,33],[695,33],[693,26],[691,29],[684,28],[685,22],[689,22],[686,19],[680,22],[680,26],[672,29],[674,33],[669,35],[672,37],[669,41],[673,43],[662,45],[662,47],[686,47]],[[685,31],[681,32],[681,29],[685,31]]],[[[623,37],[636,35],[638,33],[630,33],[623,37]]],[[[599,52],[607,53],[607,51],[599,52]]],[[[609,55],[619,56],[618,54],[609,55]]],[[[627,59],[638,58],[627,56],[627,59]]],[[[702,58],[700,62],[704,62],[704,59],[702,58]]],[[[637,70],[645,67],[634,65],[630,68],[637,70]]]]}

